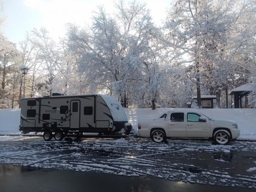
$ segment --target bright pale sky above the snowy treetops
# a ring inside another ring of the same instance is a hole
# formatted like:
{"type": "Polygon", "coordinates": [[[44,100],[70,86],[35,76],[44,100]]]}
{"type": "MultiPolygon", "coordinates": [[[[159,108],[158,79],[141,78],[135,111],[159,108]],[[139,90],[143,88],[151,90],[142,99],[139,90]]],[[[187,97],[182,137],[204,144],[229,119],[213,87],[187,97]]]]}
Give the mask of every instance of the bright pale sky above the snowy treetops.
{"type": "MultiPolygon", "coordinates": [[[[44,26],[50,36],[58,41],[65,34],[65,23],[79,26],[90,24],[93,11],[103,5],[108,13],[114,13],[113,0],[2,0],[5,17],[3,33],[14,43],[25,38],[26,32],[44,26]]],[[[125,0],[128,2],[128,0],[125,0]]],[[[138,0],[146,3],[154,22],[159,25],[172,0],[138,0]]]]}

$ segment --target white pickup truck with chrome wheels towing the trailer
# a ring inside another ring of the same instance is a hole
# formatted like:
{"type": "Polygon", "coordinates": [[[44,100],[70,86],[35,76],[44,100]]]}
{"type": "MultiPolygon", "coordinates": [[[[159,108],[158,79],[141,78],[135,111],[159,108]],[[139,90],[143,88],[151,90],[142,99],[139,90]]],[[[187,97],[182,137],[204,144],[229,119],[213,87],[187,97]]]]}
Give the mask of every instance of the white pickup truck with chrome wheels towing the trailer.
{"type": "Polygon", "coordinates": [[[151,138],[156,143],[180,137],[209,138],[226,145],[239,137],[240,130],[234,121],[214,120],[193,109],[173,109],[158,119],[139,120],[137,135],[151,138]]]}

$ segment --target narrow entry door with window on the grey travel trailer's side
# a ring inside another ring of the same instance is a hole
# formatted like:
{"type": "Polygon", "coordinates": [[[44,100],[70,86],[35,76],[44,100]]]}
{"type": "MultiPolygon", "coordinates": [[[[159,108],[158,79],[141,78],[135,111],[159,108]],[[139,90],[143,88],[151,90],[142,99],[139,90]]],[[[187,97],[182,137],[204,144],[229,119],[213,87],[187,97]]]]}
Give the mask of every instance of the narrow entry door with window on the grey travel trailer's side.
{"type": "Polygon", "coordinates": [[[70,102],[70,128],[80,128],[80,101],[70,102]]]}

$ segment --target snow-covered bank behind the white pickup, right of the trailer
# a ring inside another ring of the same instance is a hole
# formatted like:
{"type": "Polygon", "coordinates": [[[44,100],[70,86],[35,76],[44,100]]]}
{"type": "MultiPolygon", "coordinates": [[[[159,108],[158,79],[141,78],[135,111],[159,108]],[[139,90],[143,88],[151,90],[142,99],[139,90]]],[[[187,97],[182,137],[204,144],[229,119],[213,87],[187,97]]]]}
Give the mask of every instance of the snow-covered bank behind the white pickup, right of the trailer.
{"type": "MultiPolygon", "coordinates": [[[[138,119],[156,119],[171,108],[125,109],[134,129],[137,130],[138,119]]],[[[241,131],[239,140],[256,140],[256,109],[199,109],[213,119],[236,121],[241,131]]]]}

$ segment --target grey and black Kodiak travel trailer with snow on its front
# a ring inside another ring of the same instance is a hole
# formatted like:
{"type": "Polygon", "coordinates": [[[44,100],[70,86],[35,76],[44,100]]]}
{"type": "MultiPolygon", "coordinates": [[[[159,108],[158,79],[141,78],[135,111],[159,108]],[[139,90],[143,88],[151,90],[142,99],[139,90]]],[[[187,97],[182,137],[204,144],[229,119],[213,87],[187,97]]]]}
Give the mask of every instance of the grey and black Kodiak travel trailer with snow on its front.
{"type": "Polygon", "coordinates": [[[132,129],[122,105],[101,94],[21,99],[20,131],[44,132],[44,140],[62,140],[67,134],[129,134],[132,129]]]}

